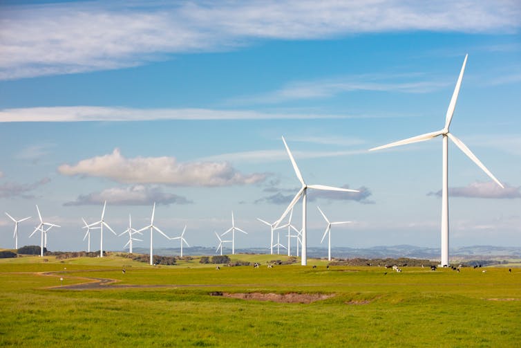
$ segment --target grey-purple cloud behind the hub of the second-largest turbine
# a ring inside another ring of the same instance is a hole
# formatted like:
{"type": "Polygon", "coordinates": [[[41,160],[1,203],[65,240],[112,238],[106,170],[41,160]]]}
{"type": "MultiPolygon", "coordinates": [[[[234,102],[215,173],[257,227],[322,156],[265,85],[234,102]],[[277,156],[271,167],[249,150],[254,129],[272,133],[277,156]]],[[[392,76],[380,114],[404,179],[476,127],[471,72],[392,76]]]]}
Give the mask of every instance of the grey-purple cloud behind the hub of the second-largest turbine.
{"type": "MultiPolygon", "coordinates": [[[[343,185],[342,188],[349,188],[349,185],[343,185]]],[[[329,201],[357,201],[362,204],[374,204],[375,201],[368,199],[371,196],[371,191],[368,187],[361,186],[357,190],[360,192],[339,192],[339,191],[322,191],[309,190],[307,191],[307,201],[316,201],[317,199],[326,199],[329,201]]],[[[272,192],[272,189],[266,192],[272,192]]],[[[287,192],[288,190],[280,190],[287,192]]],[[[293,194],[282,194],[277,192],[269,196],[262,197],[254,201],[254,203],[271,203],[271,204],[289,204],[298,190],[293,190],[293,194]]]]}

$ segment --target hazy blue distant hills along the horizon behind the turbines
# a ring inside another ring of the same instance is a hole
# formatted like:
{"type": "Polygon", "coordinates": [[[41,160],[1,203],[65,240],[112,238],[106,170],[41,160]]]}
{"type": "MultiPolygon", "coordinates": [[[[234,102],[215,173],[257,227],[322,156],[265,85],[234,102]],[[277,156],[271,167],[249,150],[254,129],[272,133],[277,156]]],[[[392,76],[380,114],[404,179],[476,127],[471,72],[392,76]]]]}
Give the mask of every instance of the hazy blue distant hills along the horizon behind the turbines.
{"type": "MultiPolygon", "coordinates": [[[[231,250],[223,250],[230,254],[231,250]]],[[[147,248],[134,248],[135,253],[148,254],[147,248]]],[[[265,248],[236,248],[236,253],[241,254],[267,254],[265,248]]],[[[373,246],[371,248],[332,248],[331,253],[334,257],[350,259],[361,257],[366,259],[387,258],[387,257],[410,257],[415,259],[439,259],[439,248],[424,248],[421,246],[399,245],[399,246],[373,246]]],[[[178,255],[179,248],[154,248],[155,255],[171,256],[178,255]]],[[[193,246],[183,248],[183,255],[216,255],[215,248],[193,246]]],[[[285,255],[285,253],[281,253],[285,255]]],[[[308,247],[308,257],[321,258],[327,257],[327,248],[308,247]]],[[[464,246],[461,248],[451,248],[451,258],[457,259],[521,259],[521,247],[506,246],[464,246]]]]}

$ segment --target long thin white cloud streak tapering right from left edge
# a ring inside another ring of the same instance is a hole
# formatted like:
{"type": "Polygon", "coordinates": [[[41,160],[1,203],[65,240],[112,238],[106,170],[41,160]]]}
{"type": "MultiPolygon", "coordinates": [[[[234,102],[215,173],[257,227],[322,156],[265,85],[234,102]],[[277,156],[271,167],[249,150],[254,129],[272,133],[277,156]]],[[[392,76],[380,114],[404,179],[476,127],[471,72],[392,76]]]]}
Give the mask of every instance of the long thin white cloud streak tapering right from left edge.
{"type": "Polygon", "coordinates": [[[310,113],[262,113],[212,109],[130,109],[124,107],[30,107],[1,109],[0,122],[82,122],[140,120],[272,120],[347,118],[310,113]]]}

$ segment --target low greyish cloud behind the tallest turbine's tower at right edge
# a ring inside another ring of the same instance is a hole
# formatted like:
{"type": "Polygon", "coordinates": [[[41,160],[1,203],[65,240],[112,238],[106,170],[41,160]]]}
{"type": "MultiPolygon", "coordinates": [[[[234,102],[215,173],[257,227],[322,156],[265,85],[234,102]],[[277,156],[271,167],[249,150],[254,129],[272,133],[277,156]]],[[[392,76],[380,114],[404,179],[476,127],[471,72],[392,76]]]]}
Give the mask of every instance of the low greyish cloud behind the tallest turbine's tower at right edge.
{"type": "MultiPolygon", "coordinates": [[[[442,196],[442,190],[437,192],[429,192],[428,196],[442,196]]],[[[504,185],[504,188],[498,186],[493,181],[484,183],[471,183],[466,187],[449,187],[448,196],[451,197],[469,197],[469,198],[491,198],[491,199],[516,199],[521,198],[521,187],[513,187],[504,185]]]]}

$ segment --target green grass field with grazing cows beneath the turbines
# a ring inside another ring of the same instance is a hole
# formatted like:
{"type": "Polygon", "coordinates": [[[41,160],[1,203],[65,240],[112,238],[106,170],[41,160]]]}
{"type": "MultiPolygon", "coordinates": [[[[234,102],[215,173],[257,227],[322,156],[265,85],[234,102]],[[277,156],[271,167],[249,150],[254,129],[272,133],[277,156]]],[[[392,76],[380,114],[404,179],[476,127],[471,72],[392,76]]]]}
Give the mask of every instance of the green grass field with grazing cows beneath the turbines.
{"type": "Polygon", "coordinates": [[[463,268],[457,273],[405,267],[396,273],[383,267],[326,269],[321,260],[310,260],[305,267],[265,266],[272,259],[284,260],[282,255],[236,255],[233,259],[258,261],[262,266],[216,271],[214,265],[199,264],[197,259],[159,267],[122,257],[63,262],[54,257],[1,259],[0,345],[521,345],[519,268],[512,273],[506,268],[463,268]],[[92,281],[85,277],[119,282],[104,289],[59,288],[92,281]],[[281,303],[209,295],[216,291],[334,296],[307,304],[281,303]]]}

